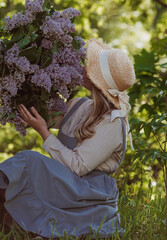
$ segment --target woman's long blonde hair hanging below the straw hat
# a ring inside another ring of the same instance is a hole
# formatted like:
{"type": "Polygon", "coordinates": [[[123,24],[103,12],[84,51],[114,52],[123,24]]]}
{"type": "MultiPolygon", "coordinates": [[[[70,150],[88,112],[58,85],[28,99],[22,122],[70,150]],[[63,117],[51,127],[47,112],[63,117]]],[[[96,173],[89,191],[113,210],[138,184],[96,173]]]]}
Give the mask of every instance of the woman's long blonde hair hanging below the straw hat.
{"type": "Polygon", "coordinates": [[[106,114],[111,112],[111,108],[114,108],[114,105],[95,86],[92,87],[92,98],[93,111],[74,131],[74,136],[79,143],[86,138],[91,138],[95,134],[95,126],[104,119],[106,114]]]}

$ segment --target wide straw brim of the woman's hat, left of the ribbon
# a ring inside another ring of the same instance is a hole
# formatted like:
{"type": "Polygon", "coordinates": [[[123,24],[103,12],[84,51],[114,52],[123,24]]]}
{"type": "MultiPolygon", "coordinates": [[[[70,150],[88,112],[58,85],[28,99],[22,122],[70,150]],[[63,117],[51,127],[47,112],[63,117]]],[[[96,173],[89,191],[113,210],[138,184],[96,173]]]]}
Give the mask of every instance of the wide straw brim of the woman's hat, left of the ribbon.
{"type": "Polygon", "coordinates": [[[120,109],[118,97],[113,97],[108,92],[111,87],[103,79],[103,75],[99,68],[99,52],[101,50],[111,49],[106,44],[92,38],[87,42],[86,50],[86,73],[91,82],[103,93],[103,95],[111,102],[113,105],[120,109]]]}

